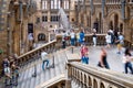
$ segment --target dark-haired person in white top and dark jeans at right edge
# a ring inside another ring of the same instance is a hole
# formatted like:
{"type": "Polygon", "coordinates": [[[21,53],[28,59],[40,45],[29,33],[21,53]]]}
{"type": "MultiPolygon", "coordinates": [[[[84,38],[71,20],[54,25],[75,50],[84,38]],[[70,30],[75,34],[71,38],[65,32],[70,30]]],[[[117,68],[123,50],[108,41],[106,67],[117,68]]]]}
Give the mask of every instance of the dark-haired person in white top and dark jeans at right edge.
{"type": "Polygon", "coordinates": [[[131,70],[131,74],[133,74],[133,67],[132,67],[132,64],[131,64],[131,58],[133,58],[133,57],[131,56],[130,48],[125,48],[124,56],[123,56],[125,74],[127,74],[127,68],[131,70]]]}

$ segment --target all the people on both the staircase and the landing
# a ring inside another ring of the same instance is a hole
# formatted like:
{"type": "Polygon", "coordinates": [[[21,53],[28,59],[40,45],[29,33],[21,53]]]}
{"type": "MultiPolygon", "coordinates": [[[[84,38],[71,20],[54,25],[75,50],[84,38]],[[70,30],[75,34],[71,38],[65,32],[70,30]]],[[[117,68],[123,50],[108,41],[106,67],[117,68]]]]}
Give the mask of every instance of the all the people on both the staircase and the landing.
{"type": "MultiPolygon", "coordinates": [[[[85,44],[85,33],[83,30],[74,32],[74,30],[71,30],[70,33],[70,38],[68,37],[68,34],[65,31],[62,32],[62,48],[66,47],[68,42],[72,46],[80,46],[80,56],[81,56],[81,62],[83,64],[89,64],[89,46],[85,44]],[[70,40],[70,41],[69,41],[70,40]]],[[[96,40],[98,35],[96,32],[94,31],[92,33],[92,42],[93,46],[96,46],[96,40]]],[[[105,42],[106,46],[101,48],[101,54],[100,54],[100,59],[98,62],[98,66],[102,68],[108,68],[110,69],[110,65],[108,63],[108,53],[105,48],[110,48],[112,45],[116,44],[117,46],[117,54],[122,54],[122,46],[124,45],[124,36],[122,35],[121,32],[115,33],[112,30],[109,30],[106,35],[105,35],[105,42]]],[[[19,77],[19,66],[16,62],[18,56],[14,54],[13,56],[10,56],[9,58],[4,58],[2,63],[3,67],[3,74],[6,76],[6,85],[18,85],[18,77],[19,77]],[[13,59],[13,62],[9,62],[10,59],[13,59]]],[[[42,69],[49,68],[49,57],[48,53],[43,52],[41,53],[41,59],[42,59],[42,69]],[[47,65],[45,65],[47,63],[47,65]]],[[[131,55],[131,50],[125,47],[124,56],[123,56],[123,65],[124,65],[124,70],[125,74],[127,74],[127,68],[131,70],[131,74],[133,74],[133,67],[131,61],[133,59],[133,56],[131,55]]]]}

